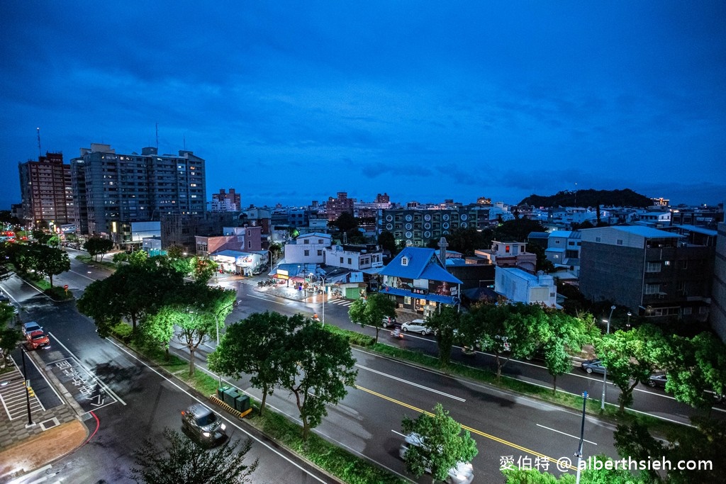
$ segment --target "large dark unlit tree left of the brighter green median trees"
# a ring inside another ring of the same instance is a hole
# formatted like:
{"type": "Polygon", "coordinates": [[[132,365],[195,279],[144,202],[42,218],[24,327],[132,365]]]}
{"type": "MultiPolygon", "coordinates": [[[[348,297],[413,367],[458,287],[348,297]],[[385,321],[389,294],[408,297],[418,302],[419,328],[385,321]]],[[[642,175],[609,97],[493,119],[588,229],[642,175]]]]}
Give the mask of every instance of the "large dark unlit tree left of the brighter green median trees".
{"type": "Polygon", "coordinates": [[[158,311],[183,284],[183,274],[155,261],[124,265],[86,287],[78,311],[94,319],[101,337],[123,319],[131,321],[135,330],[144,315],[158,311]]]}

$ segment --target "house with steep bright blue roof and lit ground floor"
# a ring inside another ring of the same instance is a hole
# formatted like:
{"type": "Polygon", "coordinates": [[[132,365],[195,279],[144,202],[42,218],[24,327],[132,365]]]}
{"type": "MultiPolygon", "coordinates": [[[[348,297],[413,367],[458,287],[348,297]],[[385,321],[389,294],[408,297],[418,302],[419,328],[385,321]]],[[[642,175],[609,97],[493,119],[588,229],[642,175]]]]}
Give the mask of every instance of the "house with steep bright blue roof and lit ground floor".
{"type": "Polygon", "coordinates": [[[429,316],[440,304],[460,303],[460,279],[446,271],[433,249],[406,247],[380,271],[381,292],[396,298],[399,308],[429,316]]]}

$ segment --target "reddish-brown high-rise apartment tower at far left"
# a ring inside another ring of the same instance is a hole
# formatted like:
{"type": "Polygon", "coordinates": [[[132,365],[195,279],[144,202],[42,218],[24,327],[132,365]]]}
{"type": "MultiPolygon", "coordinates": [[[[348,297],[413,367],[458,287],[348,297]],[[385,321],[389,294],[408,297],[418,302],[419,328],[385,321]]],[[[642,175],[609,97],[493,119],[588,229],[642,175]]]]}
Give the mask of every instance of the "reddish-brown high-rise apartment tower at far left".
{"type": "Polygon", "coordinates": [[[62,153],[46,152],[38,161],[28,160],[17,168],[23,217],[30,226],[60,226],[75,221],[70,165],[63,164],[62,153]]]}

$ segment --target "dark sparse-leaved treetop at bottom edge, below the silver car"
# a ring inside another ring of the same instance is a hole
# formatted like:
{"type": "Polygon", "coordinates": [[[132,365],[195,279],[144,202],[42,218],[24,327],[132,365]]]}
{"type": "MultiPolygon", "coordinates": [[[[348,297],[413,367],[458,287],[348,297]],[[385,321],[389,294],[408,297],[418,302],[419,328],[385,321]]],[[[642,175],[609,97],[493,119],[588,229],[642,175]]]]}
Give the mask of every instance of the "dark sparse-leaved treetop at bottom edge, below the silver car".
{"type": "Polygon", "coordinates": [[[164,429],[166,446],[147,439],[134,451],[134,467],[129,478],[146,484],[235,484],[248,483],[258,459],[244,464],[252,439],[227,440],[219,448],[207,450],[176,430],[164,429]]]}

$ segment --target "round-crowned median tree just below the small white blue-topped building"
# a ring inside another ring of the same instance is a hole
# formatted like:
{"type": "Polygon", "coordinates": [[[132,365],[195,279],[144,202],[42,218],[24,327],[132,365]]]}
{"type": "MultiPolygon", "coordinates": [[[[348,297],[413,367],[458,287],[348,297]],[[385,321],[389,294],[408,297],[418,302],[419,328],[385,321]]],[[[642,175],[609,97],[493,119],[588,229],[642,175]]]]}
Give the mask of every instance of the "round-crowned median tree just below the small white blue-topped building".
{"type": "Polygon", "coordinates": [[[542,324],[539,306],[523,303],[482,303],[462,317],[462,335],[478,341],[481,348],[494,353],[497,384],[502,368],[514,358],[528,358],[537,348],[537,327],[542,324]]]}

